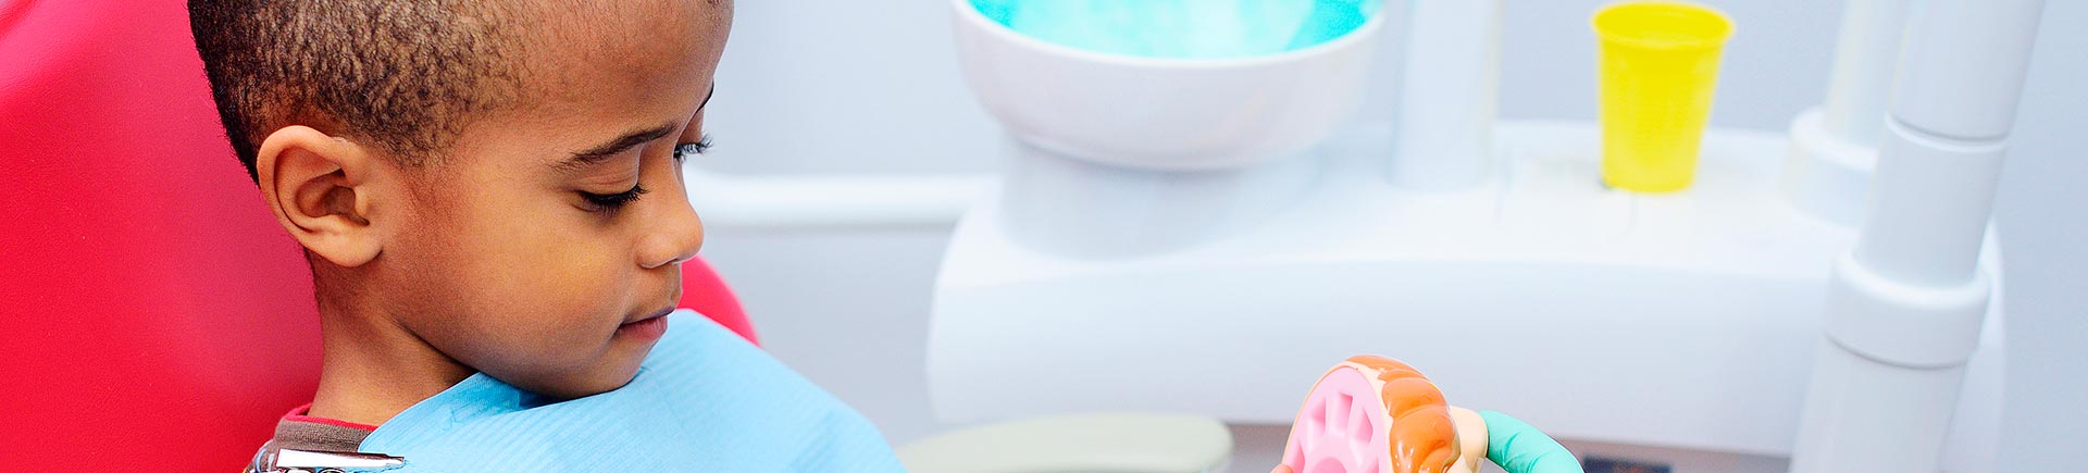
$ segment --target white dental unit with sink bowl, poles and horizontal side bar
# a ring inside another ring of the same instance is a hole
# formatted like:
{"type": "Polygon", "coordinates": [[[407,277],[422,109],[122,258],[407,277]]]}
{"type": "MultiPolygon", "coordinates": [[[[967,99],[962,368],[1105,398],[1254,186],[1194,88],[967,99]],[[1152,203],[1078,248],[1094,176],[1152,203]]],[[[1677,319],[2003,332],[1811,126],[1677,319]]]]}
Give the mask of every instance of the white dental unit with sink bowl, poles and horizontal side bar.
{"type": "Polygon", "coordinates": [[[706,219],[754,225],[963,204],[927,348],[946,421],[1288,425],[1330,363],[1384,354],[1589,458],[1994,471],[1988,227],[2040,0],[1848,0],[1825,104],[1787,135],[1710,129],[1677,194],[1604,188],[1591,121],[1495,119],[1499,0],[1389,2],[1403,38],[1380,8],[1236,60],[1082,52],[948,2],[1011,135],[998,185],[689,177],[706,219]],[[1366,75],[1372,48],[1403,75],[1366,75]],[[1353,121],[1370,88],[1401,123],[1353,121]]]}

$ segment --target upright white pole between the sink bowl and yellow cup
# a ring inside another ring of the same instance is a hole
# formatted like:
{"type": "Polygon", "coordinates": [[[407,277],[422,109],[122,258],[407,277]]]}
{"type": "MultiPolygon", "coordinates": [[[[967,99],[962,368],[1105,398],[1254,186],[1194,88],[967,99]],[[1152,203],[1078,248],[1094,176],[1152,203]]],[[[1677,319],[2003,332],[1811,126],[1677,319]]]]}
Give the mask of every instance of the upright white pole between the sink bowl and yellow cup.
{"type": "Polygon", "coordinates": [[[1407,17],[1399,142],[1401,188],[1462,190],[1493,169],[1501,0],[1418,0],[1407,17]]]}

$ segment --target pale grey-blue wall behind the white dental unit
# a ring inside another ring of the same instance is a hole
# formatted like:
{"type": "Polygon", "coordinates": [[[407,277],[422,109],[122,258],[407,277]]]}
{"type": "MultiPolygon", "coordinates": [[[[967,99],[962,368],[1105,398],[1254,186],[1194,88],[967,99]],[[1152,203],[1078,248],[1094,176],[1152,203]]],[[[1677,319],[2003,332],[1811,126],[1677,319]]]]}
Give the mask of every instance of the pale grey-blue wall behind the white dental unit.
{"type": "MultiPolygon", "coordinates": [[[[1601,4],[1508,2],[1501,119],[1595,119],[1587,19],[1601,4]]],[[[1842,2],[1710,4],[1737,23],[1714,127],[1781,133],[1794,115],[1821,104],[1842,2]]],[[[1393,15],[1391,25],[1401,25],[1399,8],[1393,15]]],[[[2046,2],[1996,204],[2011,323],[1998,471],[2088,465],[2088,450],[2075,448],[2088,438],[2088,250],[2078,244],[2088,242],[2088,129],[2080,125],[2088,119],[2088,29],[2078,25],[2088,25],[2088,2],[2046,2]]],[[[1376,75],[1386,88],[1363,119],[1397,115],[1399,54],[1380,48],[1376,75]]],[[[708,131],[718,146],[699,165],[737,175],[969,175],[994,171],[1002,150],[1000,127],[958,73],[950,8],[940,0],[739,2],[708,131]]],[[[948,235],[950,225],[714,225],[704,256],[739,292],[770,352],[904,444],[958,427],[933,417],[923,377],[948,235]]],[[[1280,427],[1236,433],[1242,448],[1282,442],[1280,427]]]]}

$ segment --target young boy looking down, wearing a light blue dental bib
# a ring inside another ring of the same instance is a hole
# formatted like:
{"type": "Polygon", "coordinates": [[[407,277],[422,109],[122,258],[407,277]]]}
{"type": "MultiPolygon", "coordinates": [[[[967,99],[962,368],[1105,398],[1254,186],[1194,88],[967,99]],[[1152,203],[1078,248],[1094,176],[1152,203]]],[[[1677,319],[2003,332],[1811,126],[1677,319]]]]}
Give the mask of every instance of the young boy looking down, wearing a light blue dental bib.
{"type": "MultiPolygon", "coordinates": [[[[860,415],[773,358],[722,346],[725,331],[699,317],[674,317],[668,333],[679,265],[704,242],[679,165],[708,146],[704,104],[731,19],[731,0],[192,0],[226,133],[305,248],[324,333],[317,396],[284,417],[251,471],[278,469],[282,450],[357,452],[388,429],[401,431],[386,446],[428,452],[378,452],[407,465],[509,458],[518,452],[472,448],[537,442],[606,458],[718,450],[768,463],[708,465],[735,471],[896,469],[860,415]],[[647,358],[672,340],[693,342],[654,358],[735,363],[647,358]],[[658,413],[616,410],[641,396],[618,390],[716,373],[764,392],[664,394],[645,398],[666,402],[658,413]],[[777,396],[793,406],[756,402],[777,396]],[[576,398],[593,402],[580,417],[539,408],[576,398]],[[430,413],[393,423],[409,408],[430,413]],[[768,410],[810,413],[798,431],[814,433],[716,431],[768,410]],[[616,415],[631,419],[572,421],[616,415]],[[645,431],[662,425],[674,431],[645,431]],[[654,438],[578,446],[641,433],[654,438]],[[716,438],[741,444],[702,444],[716,438]]],[[[599,465],[618,463],[526,463],[599,465]]]]}

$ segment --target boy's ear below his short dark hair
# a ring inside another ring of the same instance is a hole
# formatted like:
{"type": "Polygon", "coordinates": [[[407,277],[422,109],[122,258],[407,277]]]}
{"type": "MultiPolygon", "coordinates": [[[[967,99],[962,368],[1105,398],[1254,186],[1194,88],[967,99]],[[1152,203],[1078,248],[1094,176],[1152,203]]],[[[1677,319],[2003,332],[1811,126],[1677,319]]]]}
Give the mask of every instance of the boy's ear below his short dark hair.
{"type": "Polygon", "coordinates": [[[276,223],[311,254],[340,267],[361,267],[384,250],[372,231],[372,202],[380,198],[372,173],[382,167],[367,148],[292,125],[261,140],[255,177],[276,223]]]}

